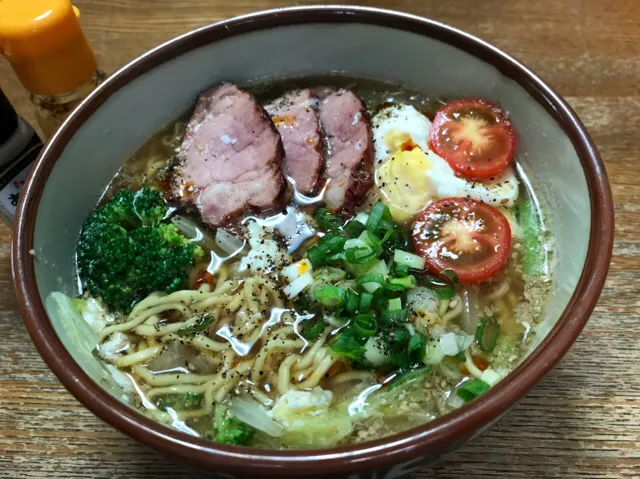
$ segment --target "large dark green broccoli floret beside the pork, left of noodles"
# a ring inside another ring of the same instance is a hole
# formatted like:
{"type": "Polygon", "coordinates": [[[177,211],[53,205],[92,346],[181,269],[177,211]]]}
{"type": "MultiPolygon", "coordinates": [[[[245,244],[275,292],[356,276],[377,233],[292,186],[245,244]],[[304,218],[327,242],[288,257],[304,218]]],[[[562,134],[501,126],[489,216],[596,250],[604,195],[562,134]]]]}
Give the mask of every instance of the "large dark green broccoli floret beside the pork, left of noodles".
{"type": "Polygon", "coordinates": [[[127,313],[153,293],[184,286],[189,266],[204,255],[173,224],[159,191],[123,190],[96,209],[80,233],[78,268],[88,291],[127,313]]]}

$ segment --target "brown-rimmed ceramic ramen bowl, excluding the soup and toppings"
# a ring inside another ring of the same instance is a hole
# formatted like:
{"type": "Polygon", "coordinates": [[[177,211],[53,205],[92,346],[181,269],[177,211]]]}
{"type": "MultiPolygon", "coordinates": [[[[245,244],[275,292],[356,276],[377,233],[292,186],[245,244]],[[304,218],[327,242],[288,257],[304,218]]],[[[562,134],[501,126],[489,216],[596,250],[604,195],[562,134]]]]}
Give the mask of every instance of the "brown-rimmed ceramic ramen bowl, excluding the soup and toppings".
{"type": "Polygon", "coordinates": [[[567,352],[603,287],[613,209],[596,147],[567,103],[500,50],[431,20],[371,8],[288,8],[234,18],[171,40],[112,75],[46,146],[24,188],[13,235],[13,275],[33,342],[69,391],[137,441],[224,477],[398,477],[480,433],[567,352]],[[90,354],[77,325],[45,309],[76,291],[82,221],[122,161],[197,93],[222,79],[345,72],[444,97],[500,102],[518,132],[519,163],[557,238],[554,294],[537,347],[476,401],[405,433],[348,447],[272,451],[216,444],[131,409],[90,354]],[[373,475],[377,471],[378,475],[373,475]]]}

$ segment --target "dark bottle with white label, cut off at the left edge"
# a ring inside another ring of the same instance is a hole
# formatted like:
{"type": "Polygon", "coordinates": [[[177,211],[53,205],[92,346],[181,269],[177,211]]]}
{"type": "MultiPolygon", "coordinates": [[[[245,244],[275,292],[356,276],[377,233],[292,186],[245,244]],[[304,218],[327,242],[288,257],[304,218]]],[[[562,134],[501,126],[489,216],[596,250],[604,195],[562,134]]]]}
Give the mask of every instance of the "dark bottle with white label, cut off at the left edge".
{"type": "Polygon", "coordinates": [[[20,192],[42,149],[38,135],[0,90],[0,217],[13,222],[20,192]]]}

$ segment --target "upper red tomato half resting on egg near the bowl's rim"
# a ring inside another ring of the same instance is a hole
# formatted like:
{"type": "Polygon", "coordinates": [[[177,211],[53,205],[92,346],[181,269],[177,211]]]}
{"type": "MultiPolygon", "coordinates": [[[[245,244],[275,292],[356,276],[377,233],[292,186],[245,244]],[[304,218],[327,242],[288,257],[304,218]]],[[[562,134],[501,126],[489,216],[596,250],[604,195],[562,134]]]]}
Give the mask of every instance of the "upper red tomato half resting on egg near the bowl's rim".
{"type": "Polygon", "coordinates": [[[502,110],[485,100],[457,100],[438,110],[431,148],[459,175],[495,176],[516,153],[516,136],[502,110]]]}

